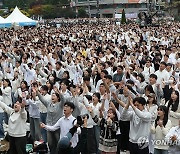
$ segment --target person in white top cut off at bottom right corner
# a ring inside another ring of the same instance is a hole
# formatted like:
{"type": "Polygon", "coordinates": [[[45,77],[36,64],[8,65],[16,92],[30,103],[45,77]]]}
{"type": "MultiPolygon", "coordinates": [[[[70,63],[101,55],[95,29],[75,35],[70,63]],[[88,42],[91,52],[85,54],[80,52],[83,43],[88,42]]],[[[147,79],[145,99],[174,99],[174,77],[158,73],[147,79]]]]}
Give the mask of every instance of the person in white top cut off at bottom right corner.
{"type": "Polygon", "coordinates": [[[170,144],[168,153],[179,154],[180,153],[180,119],[179,126],[172,127],[165,137],[166,141],[170,144]]]}

